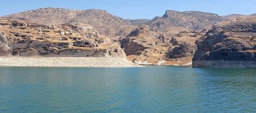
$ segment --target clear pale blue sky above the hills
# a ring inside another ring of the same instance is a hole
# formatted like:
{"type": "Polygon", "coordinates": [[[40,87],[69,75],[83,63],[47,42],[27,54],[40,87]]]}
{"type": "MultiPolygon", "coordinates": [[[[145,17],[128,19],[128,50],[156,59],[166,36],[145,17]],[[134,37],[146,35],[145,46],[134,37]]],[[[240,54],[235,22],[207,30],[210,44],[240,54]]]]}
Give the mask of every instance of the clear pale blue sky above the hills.
{"type": "Polygon", "coordinates": [[[254,14],[256,0],[1,0],[0,16],[42,7],[97,8],[122,18],[152,19],[162,16],[166,10],[254,14]]]}

